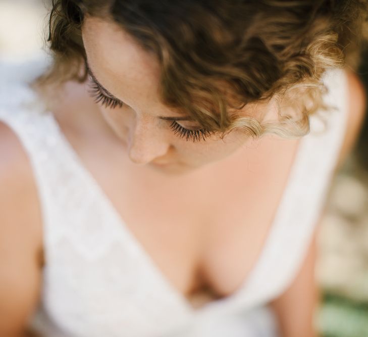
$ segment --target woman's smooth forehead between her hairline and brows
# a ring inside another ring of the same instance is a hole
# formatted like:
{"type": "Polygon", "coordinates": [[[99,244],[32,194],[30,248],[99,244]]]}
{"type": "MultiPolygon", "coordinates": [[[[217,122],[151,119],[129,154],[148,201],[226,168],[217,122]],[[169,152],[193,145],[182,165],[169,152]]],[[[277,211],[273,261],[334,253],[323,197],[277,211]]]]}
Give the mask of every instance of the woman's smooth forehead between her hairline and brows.
{"type": "Polygon", "coordinates": [[[118,24],[86,16],[82,37],[91,70],[116,97],[158,101],[159,62],[118,24]]]}

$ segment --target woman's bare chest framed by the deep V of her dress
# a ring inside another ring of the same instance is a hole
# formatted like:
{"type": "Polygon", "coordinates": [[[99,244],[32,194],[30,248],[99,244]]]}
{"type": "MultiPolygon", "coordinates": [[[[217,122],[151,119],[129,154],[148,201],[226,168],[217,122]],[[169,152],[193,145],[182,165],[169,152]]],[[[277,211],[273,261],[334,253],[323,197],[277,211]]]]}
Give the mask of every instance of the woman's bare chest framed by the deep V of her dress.
{"type": "Polygon", "coordinates": [[[283,145],[279,159],[170,181],[113,167],[106,175],[85,161],[155,267],[200,306],[234,293],[256,264],[297,149],[283,145]]]}

